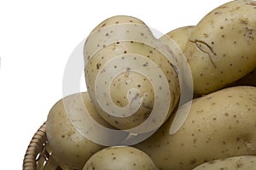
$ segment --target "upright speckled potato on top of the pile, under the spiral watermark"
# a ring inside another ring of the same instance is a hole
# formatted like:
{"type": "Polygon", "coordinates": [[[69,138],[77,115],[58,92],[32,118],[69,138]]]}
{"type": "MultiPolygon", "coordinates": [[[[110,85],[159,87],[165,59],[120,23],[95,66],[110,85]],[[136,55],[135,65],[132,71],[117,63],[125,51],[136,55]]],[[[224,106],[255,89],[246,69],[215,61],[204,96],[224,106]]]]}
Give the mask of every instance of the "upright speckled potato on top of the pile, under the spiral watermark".
{"type": "Polygon", "coordinates": [[[180,90],[174,56],[148,29],[134,22],[118,25],[122,27],[98,28],[85,42],[84,53],[90,53],[84,68],[86,86],[96,110],[113,127],[148,133],[160,127],[177,105],[180,90]],[[92,38],[104,31],[112,33],[92,38]],[[96,53],[90,52],[95,50],[93,43],[103,42],[107,43],[99,45],[96,53]]]}

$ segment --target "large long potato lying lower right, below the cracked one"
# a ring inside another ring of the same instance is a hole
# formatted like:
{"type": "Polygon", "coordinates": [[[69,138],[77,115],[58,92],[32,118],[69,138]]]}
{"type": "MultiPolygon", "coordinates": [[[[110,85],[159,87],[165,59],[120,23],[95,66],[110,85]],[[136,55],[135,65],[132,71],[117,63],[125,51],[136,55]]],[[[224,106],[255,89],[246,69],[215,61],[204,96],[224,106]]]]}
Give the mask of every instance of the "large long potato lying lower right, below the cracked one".
{"type": "Polygon", "coordinates": [[[230,156],[256,155],[256,88],[224,88],[194,99],[189,116],[170,135],[169,119],[151,137],[134,147],[162,170],[191,170],[230,156]]]}

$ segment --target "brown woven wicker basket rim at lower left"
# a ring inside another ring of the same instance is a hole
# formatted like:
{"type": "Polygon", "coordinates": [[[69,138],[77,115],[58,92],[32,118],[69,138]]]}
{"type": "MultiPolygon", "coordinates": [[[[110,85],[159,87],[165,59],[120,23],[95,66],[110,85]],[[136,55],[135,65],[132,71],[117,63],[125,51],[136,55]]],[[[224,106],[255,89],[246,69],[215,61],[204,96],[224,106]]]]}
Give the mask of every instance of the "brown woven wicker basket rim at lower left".
{"type": "Polygon", "coordinates": [[[52,159],[47,144],[46,124],[39,127],[27,147],[23,160],[23,170],[62,170],[52,159]]]}

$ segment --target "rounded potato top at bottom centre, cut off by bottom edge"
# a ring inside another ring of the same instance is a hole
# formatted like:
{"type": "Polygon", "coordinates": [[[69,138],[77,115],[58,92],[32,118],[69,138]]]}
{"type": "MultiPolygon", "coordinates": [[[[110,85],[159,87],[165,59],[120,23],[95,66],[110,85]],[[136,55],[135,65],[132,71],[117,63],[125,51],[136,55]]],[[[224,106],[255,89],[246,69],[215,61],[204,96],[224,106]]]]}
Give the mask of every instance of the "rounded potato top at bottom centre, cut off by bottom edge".
{"type": "Polygon", "coordinates": [[[157,170],[142,150],[131,146],[113,146],[91,156],[83,170],[157,170]]]}

